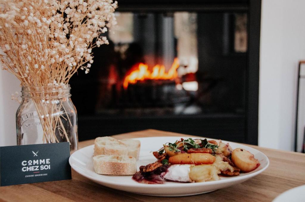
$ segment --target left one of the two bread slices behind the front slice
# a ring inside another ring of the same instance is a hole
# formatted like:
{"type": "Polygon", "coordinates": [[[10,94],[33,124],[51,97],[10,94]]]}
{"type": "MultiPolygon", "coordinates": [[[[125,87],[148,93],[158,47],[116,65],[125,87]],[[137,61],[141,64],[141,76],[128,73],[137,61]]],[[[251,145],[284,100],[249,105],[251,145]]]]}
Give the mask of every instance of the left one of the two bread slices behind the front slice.
{"type": "Polygon", "coordinates": [[[128,147],[113,137],[97,137],[94,141],[94,156],[100,154],[127,155],[128,147]]]}

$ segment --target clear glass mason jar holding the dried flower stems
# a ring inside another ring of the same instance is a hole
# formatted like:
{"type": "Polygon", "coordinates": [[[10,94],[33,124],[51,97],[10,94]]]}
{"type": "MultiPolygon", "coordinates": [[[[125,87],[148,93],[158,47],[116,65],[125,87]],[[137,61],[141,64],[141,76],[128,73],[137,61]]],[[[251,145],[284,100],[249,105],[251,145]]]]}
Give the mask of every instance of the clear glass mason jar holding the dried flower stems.
{"type": "Polygon", "coordinates": [[[77,150],[77,112],[70,85],[22,86],[16,112],[17,145],[70,142],[77,150]]]}

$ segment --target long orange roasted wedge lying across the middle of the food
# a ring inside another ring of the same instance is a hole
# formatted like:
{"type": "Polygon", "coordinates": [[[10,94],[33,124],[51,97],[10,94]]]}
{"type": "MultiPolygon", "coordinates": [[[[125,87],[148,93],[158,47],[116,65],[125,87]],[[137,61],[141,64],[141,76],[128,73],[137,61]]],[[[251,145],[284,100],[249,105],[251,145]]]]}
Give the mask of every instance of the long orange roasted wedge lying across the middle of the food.
{"type": "Polygon", "coordinates": [[[171,164],[212,164],[215,162],[215,157],[208,153],[183,153],[176,156],[171,156],[168,162],[171,164]]]}

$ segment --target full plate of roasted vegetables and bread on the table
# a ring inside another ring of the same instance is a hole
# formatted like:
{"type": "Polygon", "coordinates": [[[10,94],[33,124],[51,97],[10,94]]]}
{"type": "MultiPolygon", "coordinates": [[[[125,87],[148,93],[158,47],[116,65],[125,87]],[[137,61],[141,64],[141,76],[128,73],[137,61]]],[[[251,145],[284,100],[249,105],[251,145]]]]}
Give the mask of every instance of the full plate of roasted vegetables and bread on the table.
{"type": "Polygon", "coordinates": [[[71,167],[117,190],[151,196],[188,196],[242,183],[269,159],[246,145],[203,137],[98,137],[74,152],[71,167]]]}

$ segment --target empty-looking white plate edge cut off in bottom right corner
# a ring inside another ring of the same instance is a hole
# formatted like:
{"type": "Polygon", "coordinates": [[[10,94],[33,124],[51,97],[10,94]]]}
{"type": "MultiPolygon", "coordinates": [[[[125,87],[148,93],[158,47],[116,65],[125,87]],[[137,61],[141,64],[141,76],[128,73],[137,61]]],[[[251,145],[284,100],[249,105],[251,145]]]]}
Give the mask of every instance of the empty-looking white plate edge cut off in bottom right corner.
{"type": "Polygon", "coordinates": [[[287,201],[304,202],[305,201],[304,193],[305,193],[305,185],[297,186],[293,189],[281,193],[272,202],[287,202],[287,201]]]}

